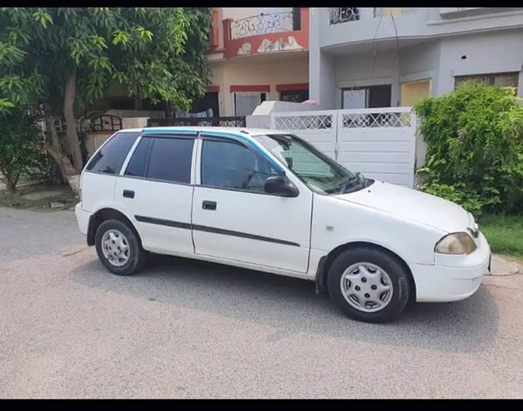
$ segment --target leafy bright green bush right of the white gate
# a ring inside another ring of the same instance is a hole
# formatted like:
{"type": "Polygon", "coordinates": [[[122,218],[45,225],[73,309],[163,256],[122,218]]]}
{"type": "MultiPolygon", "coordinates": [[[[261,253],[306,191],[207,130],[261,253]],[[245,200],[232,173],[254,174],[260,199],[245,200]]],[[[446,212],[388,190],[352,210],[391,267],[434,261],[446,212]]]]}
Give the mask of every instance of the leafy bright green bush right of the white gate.
{"type": "Polygon", "coordinates": [[[523,107],[514,88],[465,83],[415,105],[422,190],[473,214],[523,210],[523,107]]]}

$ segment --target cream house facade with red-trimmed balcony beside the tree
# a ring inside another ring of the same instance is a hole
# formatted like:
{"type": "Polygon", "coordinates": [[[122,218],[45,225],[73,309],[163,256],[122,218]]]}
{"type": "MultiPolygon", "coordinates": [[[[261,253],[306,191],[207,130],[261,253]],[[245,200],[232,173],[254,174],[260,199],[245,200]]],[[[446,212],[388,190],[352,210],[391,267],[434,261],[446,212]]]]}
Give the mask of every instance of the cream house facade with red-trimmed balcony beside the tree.
{"type": "Polygon", "coordinates": [[[308,8],[213,8],[212,84],[193,111],[246,116],[265,100],[308,99],[308,8]]]}

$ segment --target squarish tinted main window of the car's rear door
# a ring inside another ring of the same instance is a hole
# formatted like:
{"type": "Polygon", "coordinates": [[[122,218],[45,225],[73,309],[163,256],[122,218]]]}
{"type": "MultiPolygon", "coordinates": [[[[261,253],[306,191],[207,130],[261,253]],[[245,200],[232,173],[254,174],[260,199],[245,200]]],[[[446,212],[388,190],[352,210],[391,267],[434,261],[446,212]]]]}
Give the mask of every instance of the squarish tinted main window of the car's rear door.
{"type": "Polygon", "coordinates": [[[147,178],[191,182],[194,138],[154,138],[147,178]]]}

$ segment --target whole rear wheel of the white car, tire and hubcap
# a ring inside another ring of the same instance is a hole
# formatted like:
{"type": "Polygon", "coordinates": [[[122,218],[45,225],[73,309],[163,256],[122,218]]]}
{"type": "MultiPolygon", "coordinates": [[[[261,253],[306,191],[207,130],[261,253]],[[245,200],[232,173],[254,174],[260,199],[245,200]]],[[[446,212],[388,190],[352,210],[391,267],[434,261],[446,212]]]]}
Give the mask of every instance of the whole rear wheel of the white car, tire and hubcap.
{"type": "Polygon", "coordinates": [[[138,236],[122,221],[101,223],[96,230],[95,244],[101,263],[114,274],[134,274],[145,262],[145,251],[138,236]]]}

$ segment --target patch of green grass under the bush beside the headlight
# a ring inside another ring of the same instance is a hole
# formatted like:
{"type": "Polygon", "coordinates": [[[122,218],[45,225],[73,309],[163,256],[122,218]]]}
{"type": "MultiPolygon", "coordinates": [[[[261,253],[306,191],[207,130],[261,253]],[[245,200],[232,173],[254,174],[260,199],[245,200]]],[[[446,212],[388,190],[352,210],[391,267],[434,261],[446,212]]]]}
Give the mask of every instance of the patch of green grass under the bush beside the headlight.
{"type": "Polygon", "coordinates": [[[479,219],[479,226],[492,251],[523,256],[522,214],[483,214],[479,219]]]}

